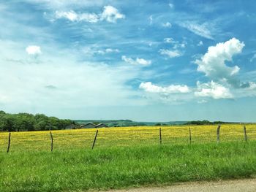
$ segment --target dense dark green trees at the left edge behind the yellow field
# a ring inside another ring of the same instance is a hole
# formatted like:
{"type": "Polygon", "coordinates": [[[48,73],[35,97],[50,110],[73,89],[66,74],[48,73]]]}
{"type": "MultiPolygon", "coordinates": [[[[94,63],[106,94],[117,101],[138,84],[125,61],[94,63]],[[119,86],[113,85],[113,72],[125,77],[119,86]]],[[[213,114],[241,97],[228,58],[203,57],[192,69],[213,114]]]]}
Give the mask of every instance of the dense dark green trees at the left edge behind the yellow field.
{"type": "Polygon", "coordinates": [[[26,112],[9,114],[0,111],[0,131],[44,131],[65,129],[76,125],[74,120],[61,120],[44,114],[32,115],[26,112]]]}

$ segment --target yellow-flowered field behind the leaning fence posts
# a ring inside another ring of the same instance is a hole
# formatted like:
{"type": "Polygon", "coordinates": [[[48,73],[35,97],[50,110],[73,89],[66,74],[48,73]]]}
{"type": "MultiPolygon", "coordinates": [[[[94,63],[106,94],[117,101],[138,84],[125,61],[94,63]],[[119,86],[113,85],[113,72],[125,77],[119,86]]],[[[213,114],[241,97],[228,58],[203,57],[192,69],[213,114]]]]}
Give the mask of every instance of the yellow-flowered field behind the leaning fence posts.
{"type": "MultiPolygon", "coordinates": [[[[161,126],[162,144],[216,142],[217,126],[161,126]]],[[[127,145],[159,145],[159,126],[99,128],[95,148],[127,145]]],[[[52,131],[53,150],[91,148],[96,128],[52,131]]],[[[248,140],[256,139],[256,125],[246,125],[248,140]]],[[[50,131],[12,132],[10,151],[50,150],[50,131]]],[[[0,151],[7,150],[7,132],[0,133],[0,151]]],[[[220,129],[220,142],[243,141],[244,125],[225,124],[220,129]]]]}

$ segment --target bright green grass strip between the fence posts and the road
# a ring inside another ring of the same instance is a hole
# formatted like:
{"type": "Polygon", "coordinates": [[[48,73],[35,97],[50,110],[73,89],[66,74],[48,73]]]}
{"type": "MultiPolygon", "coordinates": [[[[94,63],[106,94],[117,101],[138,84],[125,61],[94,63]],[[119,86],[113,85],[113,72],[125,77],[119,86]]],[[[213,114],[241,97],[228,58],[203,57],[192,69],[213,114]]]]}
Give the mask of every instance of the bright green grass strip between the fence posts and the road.
{"type": "Polygon", "coordinates": [[[256,142],[0,153],[0,191],[86,191],[256,175],[256,142]]]}

